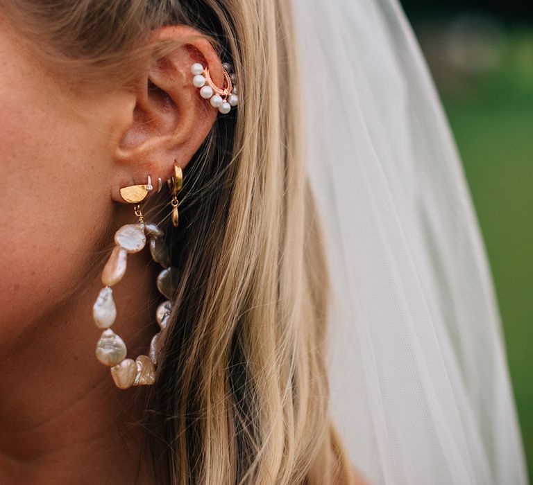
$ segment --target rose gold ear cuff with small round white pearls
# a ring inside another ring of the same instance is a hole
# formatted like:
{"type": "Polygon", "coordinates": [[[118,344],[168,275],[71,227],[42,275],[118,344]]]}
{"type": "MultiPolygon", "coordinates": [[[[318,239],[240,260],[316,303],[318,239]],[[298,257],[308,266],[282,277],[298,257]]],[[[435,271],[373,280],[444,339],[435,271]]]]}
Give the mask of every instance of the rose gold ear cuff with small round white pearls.
{"type": "Polygon", "coordinates": [[[232,107],[239,104],[235,74],[231,73],[232,67],[228,62],[222,64],[224,87],[214,84],[208,67],[203,67],[199,62],[191,66],[193,74],[192,84],[200,89],[200,96],[210,100],[211,106],[217,108],[221,114],[228,114],[232,107]]]}

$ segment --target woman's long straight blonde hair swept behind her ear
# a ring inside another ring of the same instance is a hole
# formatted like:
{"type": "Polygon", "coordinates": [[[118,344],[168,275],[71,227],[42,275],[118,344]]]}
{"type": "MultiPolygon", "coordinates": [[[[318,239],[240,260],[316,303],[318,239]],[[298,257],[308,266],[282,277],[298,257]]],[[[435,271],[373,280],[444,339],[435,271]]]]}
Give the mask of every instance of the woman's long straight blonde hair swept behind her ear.
{"type": "Polygon", "coordinates": [[[219,118],[187,166],[170,241],[180,281],[147,424],[158,480],[350,482],[328,414],[328,274],[305,177],[290,2],[8,3],[49,62],[85,85],[127,85],[166,24],[197,28],[235,66],[238,112],[219,118]]]}

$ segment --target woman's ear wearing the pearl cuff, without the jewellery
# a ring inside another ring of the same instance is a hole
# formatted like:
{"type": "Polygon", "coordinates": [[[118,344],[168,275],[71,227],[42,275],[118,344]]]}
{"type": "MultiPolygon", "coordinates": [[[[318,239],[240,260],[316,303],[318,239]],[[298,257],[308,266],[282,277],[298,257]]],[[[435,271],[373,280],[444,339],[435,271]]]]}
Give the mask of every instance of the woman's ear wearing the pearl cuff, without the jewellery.
{"type": "Polygon", "coordinates": [[[184,167],[208,136],[218,110],[202,98],[192,84],[191,66],[209,67],[213,81],[223,85],[221,60],[212,44],[194,28],[164,26],[155,31],[153,55],[135,83],[135,99],[123,105],[128,126],[117,136],[112,198],[122,202],[119,188],[167,180],[174,161],[184,167]],[[158,46],[176,42],[171,53],[160,58],[158,46]]]}

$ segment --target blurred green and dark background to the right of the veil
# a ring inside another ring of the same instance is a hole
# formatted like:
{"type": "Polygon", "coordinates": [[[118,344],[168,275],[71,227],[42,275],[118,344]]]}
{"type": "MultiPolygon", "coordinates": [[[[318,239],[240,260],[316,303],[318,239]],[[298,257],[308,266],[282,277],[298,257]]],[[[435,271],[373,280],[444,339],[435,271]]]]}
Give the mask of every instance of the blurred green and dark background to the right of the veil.
{"type": "Polygon", "coordinates": [[[402,3],[480,219],[533,477],[533,3],[402,3]]]}

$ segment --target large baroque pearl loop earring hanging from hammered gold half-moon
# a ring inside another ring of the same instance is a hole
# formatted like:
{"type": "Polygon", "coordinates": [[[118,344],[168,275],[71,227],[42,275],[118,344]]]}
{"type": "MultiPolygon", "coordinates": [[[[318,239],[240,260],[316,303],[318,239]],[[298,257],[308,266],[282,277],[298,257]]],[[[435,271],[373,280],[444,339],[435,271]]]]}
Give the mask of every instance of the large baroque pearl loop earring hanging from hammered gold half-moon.
{"type": "MultiPolygon", "coordinates": [[[[126,224],[115,233],[115,248],[112,250],[101,276],[102,283],[105,286],[100,291],[93,306],[93,317],[96,326],[105,329],[96,344],[96,358],[102,364],[111,367],[111,376],[120,389],[128,389],[131,386],[151,385],[155,381],[160,333],[156,333],[153,336],[149,355],[139,355],[136,360],[133,360],[126,358],[127,349],[124,340],[110,328],[117,317],[117,308],[113,300],[111,287],[116,285],[124,276],[128,254],[137,253],[144,248],[146,236],[150,237],[149,246],[153,260],[156,263],[160,263],[164,268],[157,279],[158,290],[168,299],[173,296],[176,290],[177,270],[170,267],[169,252],[163,240],[164,233],[156,224],[144,222],[144,215],[139,204],[151,190],[153,190],[153,186],[150,176],[147,184],[121,188],[121,197],[126,202],[135,204],[133,210],[138,222],[126,224]]],[[[164,330],[167,325],[170,311],[170,301],[164,301],[155,312],[155,319],[158,321],[161,330],[164,330]]]]}

